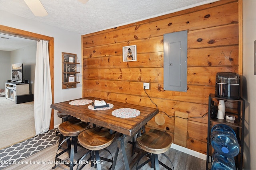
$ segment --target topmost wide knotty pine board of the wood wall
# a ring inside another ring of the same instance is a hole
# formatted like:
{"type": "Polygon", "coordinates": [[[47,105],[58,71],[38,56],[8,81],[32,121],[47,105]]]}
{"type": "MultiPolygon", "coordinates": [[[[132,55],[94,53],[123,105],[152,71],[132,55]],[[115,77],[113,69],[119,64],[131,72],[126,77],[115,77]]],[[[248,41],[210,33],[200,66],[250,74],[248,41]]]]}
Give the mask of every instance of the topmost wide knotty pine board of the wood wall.
{"type": "Polygon", "coordinates": [[[156,37],[170,32],[186,29],[197,30],[234,22],[238,23],[238,6],[236,3],[225,4],[223,6],[213,7],[210,10],[203,9],[184,14],[183,16],[166,17],[154,22],[149,21],[116,31],[99,33],[83,39],[83,47],[88,48],[92,46],[134,41],[136,39],[156,37]]]}

